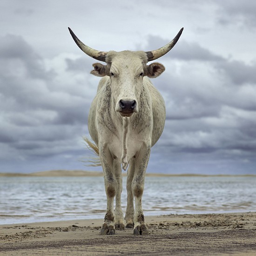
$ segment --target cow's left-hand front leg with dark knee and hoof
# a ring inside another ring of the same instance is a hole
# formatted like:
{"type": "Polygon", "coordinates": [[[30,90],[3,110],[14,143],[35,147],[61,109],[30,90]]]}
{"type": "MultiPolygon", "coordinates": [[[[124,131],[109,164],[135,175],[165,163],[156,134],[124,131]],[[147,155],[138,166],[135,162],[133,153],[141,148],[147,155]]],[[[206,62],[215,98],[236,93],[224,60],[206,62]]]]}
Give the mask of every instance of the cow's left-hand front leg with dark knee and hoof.
{"type": "MultiPolygon", "coordinates": [[[[103,147],[102,147],[103,148],[103,147]]],[[[109,153],[109,149],[100,150],[101,165],[104,173],[105,191],[107,195],[107,210],[101,227],[101,235],[115,234],[115,213],[114,198],[116,195],[117,182],[113,170],[113,158],[109,153]]]]}

